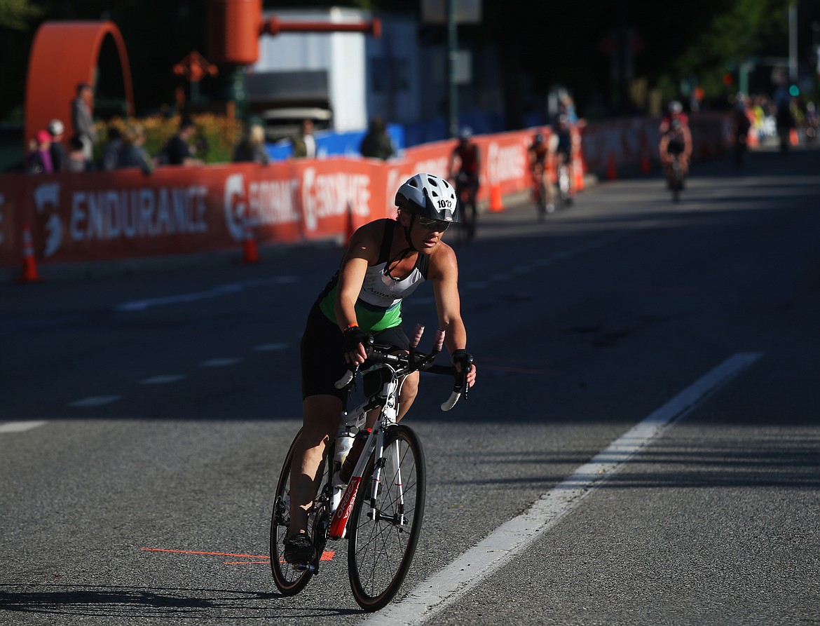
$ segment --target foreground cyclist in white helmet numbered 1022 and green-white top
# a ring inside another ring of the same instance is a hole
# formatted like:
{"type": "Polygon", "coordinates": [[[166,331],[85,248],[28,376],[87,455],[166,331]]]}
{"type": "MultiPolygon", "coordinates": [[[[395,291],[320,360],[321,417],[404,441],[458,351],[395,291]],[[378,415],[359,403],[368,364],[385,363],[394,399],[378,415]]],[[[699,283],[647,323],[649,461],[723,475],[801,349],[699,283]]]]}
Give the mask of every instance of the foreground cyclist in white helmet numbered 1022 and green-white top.
{"type": "MultiPolygon", "coordinates": [[[[339,270],[321,291],[307,316],[302,337],[303,427],[290,469],[290,527],[284,556],[289,563],[307,564],[316,556],[307,537],[307,509],[316,496],[317,476],[327,446],[335,438],[346,390],[334,383],[348,363],[365,361],[362,340],[408,349],[401,323],[402,299],[430,281],[444,343],[460,371],[467,362],[467,331],[458,295],[458,261],[441,240],[450,224],[458,223],[458,199],[447,180],[417,174],[396,194],[395,219],[369,222],[353,233],[339,270]]],[[[476,368],[467,383],[476,381],[476,368]]],[[[403,381],[399,419],[418,390],[418,372],[403,381]]],[[[368,424],[371,426],[371,424],[368,424]]]]}

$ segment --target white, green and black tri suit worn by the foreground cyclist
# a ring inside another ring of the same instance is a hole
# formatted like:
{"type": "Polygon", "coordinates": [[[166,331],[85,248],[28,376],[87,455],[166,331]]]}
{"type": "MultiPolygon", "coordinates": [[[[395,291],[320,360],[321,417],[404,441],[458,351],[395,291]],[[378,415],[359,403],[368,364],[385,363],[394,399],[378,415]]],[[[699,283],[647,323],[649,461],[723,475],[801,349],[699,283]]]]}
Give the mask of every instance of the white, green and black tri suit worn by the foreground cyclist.
{"type": "MultiPolygon", "coordinates": [[[[390,276],[390,265],[399,260],[389,258],[390,245],[399,223],[395,220],[383,222],[385,235],[381,241],[379,258],[376,265],[368,266],[365,272],[362,290],[359,291],[355,305],[356,319],[359,328],[374,336],[376,343],[407,350],[408,337],[401,327],[402,300],[426,281],[430,258],[426,254],[419,254],[416,266],[402,280],[390,276]]],[[[301,345],[303,398],[328,394],[344,401],[346,397],[345,391],[339,391],[334,386],[347,367],[344,363],[342,332],[334,311],[338,286],[337,271],[321,291],[307,316],[301,345]]]]}

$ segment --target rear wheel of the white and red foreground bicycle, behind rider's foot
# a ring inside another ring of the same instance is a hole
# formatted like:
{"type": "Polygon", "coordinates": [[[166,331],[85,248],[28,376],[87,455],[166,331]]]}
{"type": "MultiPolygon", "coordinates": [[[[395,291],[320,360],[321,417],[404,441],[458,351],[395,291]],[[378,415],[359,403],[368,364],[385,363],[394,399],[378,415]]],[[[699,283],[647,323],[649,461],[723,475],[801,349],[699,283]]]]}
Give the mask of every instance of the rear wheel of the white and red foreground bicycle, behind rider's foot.
{"type": "MultiPolygon", "coordinates": [[[[274,498],[273,511],[271,512],[271,573],[276,587],[283,596],[295,596],[301,592],[313,576],[310,570],[296,569],[293,564],[285,561],[281,552],[284,548],[285,539],[289,534],[290,512],[287,505],[286,496],[290,491],[290,464],[294,458],[294,446],[298,441],[301,430],[294,437],[290,444],[288,454],[285,455],[285,463],[282,464],[282,471],[279,475],[279,482],[276,483],[276,497],[274,498]]],[[[319,467],[318,476],[324,475],[325,462],[319,467]]],[[[316,520],[317,512],[314,509],[307,518],[307,533],[312,535],[313,523],[316,520]]],[[[320,555],[321,556],[321,555],[320,555]]]]}

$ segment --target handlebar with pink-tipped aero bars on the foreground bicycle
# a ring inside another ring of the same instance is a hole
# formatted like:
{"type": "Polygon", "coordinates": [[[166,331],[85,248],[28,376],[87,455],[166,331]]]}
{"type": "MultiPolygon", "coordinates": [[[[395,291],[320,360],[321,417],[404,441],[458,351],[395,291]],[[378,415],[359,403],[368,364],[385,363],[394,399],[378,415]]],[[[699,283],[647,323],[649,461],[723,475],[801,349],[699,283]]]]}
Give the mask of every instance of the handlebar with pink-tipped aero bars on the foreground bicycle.
{"type": "MultiPolygon", "coordinates": [[[[371,365],[385,363],[386,365],[396,368],[396,371],[401,372],[402,376],[417,370],[433,374],[449,374],[456,380],[453,383],[453,391],[450,393],[450,397],[441,404],[442,411],[449,411],[456,405],[462,394],[467,397],[467,391],[469,389],[467,385],[467,372],[470,371],[473,361],[472,358],[468,359],[467,368],[463,368],[461,372],[458,372],[452,365],[447,366],[432,363],[432,360],[435,359],[435,356],[439,354],[444,347],[444,331],[441,329],[435,331],[433,350],[430,354],[416,352],[416,347],[421,340],[421,334],[423,332],[424,327],[417,325],[416,331],[413,333],[412,340],[410,341],[410,351],[408,354],[391,354],[391,351],[395,350],[394,346],[375,345],[373,338],[368,337],[367,361],[365,363],[371,365]]],[[[335,382],[336,389],[344,389],[344,387],[353,382],[353,378],[356,376],[358,369],[358,365],[350,366],[342,377],[335,382]]]]}

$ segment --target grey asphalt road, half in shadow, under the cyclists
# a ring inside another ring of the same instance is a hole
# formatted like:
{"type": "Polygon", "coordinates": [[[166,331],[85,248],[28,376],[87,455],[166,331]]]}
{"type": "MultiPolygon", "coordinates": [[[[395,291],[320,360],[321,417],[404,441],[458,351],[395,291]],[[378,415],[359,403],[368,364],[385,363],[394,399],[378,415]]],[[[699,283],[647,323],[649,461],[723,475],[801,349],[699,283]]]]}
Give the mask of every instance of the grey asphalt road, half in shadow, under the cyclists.
{"type": "MultiPolygon", "coordinates": [[[[0,623],[820,624],[818,172],[755,153],[696,163],[678,204],[656,173],[482,216],[478,382],[442,414],[422,380],[421,542],[374,616],[344,544],[292,598],[266,556],[339,249],[3,283],[0,623]]],[[[435,325],[429,287],[404,317],[435,325]]]]}

